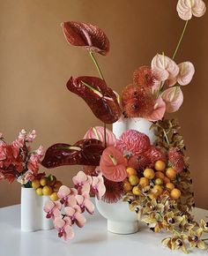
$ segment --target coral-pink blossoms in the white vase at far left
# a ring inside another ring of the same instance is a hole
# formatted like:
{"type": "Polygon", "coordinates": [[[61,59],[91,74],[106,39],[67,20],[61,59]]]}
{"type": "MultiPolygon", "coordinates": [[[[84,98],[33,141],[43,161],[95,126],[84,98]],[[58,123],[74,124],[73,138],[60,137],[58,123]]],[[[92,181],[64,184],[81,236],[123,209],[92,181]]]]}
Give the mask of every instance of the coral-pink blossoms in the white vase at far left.
{"type": "Polygon", "coordinates": [[[35,139],[36,133],[19,132],[18,139],[11,144],[4,141],[0,134],[0,180],[6,179],[11,184],[15,179],[25,187],[32,187],[35,178],[45,174],[39,173],[39,165],[44,155],[43,147],[32,151],[30,144],[35,139]]]}

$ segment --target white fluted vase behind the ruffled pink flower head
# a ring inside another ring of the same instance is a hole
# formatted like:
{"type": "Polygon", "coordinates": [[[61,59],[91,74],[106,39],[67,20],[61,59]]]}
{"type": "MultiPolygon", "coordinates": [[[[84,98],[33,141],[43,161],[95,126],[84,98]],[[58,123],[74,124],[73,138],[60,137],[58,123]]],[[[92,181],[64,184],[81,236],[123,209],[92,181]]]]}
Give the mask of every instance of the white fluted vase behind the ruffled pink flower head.
{"type": "Polygon", "coordinates": [[[123,132],[126,132],[130,129],[136,130],[137,132],[143,132],[150,138],[151,144],[153,144],[156,137],[154,130],[150,130],[151,125],[152,122],[146,120],[145,118],[121,117],[117,122],[113,124],[113,132],[117,139],[123,134],[123,132]]]}

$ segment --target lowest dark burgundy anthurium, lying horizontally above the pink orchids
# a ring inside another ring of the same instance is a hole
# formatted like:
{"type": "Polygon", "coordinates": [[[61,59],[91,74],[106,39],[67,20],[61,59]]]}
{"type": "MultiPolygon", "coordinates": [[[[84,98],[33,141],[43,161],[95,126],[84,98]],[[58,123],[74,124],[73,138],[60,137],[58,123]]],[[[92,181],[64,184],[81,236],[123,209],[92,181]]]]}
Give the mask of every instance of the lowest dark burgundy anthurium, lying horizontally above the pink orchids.
{"type": "Polygon", "coordinates": [[[103,150],[98,139],[81,139],[74,145],[57,143],[48,147],[41,164],[46,168],[76,164],[98,166],[103,150]]]}

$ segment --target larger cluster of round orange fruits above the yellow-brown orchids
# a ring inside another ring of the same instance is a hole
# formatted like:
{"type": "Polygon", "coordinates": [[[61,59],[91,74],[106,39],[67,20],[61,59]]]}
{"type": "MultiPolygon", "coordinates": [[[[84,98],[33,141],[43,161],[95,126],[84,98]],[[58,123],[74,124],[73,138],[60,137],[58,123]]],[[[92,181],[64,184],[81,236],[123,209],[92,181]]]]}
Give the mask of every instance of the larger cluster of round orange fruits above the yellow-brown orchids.
{"type": "Polygon", "coordinates": [[[145,188],[151,185],[148,197],[157,199],[163,192],[169,192],[171,199],[178,200],[181,197],[181,191],[175,188],[176,171],[172,167],[167,167],[165,162],[157,161],[154,168],[147,168],[143,172],[137,173],[136,169],[127,168],[128,178],[123,183],[125,192],[132,192],[139,196],[145,188]]]}

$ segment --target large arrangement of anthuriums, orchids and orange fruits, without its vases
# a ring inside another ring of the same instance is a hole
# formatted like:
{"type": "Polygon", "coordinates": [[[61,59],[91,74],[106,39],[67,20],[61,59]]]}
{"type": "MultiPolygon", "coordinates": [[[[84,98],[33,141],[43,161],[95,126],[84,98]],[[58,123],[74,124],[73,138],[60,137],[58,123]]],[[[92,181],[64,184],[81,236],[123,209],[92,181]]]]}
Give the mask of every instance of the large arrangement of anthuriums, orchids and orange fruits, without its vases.
{"type": "Polygon", "coordinates": [[[88,50],[99,73],[99,78],[71,77],[67,88],[85,100],[104,126],[90,128],[84,139],[74,145],[58,143],[46,151],[42,165],[47,168],[84,166],[73,177],[75,187],[62,186],[57,194],[59,200],[48,202],[44,209],[47,217],[54,218],[59,237],[73,237],[72,224],[84,225],[85,210],[93,214],[91,192],[108,203],[129,202],[130,210],[152,231],[166,230],[172,234],[162,241],[172,250],[188,253],[187,245],[207,248],[208,238],[201,237],[208,232],[208,222],[197,223],[190,213],[194,207],[192,180],[180,126],[174,119],[164,118],[166,112],[181,107],[182,87],[189,84],[195,73],[193,64],[189,61],[176,64],[175,56],[189,19],[203,16],[206,6],[202,0],[179,0],[176,9],[185,25],[174,55],[170,58],[164,53],[157,54],[150,66],[139,67],[133,72],[132,83],[123,88],[121,97],[108,87],[94,56],[94,53],[108,54],[107,35],[92,24],[63,22],[66,41],[88,50]],[[106,124],[123,117],[152,121],[154,145],[148,136],[135,130],[115,138],[106,124]]]}

